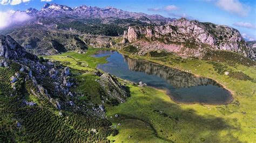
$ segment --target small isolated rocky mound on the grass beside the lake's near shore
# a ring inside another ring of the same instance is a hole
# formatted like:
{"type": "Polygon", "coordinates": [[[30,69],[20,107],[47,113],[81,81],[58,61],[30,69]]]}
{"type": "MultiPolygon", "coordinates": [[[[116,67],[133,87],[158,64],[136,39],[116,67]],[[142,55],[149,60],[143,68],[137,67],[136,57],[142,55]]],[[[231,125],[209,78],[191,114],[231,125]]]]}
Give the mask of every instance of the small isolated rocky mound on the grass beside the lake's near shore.
{"type": "Polygon", "coordinates": [[[105,92],[114,99],[118,99],[119,102],[124,103],[126,97],[129,97],[129,92],[124,85],[121,85],[116,77],[111,76],[109,73],[105,73],[100,76],[98,80],[105,92]]]}

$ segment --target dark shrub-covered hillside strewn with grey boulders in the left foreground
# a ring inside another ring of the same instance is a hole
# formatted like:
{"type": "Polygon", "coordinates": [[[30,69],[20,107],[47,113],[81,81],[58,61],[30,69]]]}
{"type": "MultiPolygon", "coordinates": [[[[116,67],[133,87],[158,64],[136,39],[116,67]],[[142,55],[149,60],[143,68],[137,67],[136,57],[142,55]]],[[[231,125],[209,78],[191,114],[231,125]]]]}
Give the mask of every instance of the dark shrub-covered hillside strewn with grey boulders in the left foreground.
{"type": "Polygon", "coordinates": [[[69,67],[39,60],[9,35],[0,35],[0,40],[1,142],[106,140],[112,129],[104,105],[125,102],[129,95],[125,86],[111,75],[95,73],[99,82],[114,81],[104,87],[98,84],[97,96],[105,104],[97,105],[77,92],[76,87],[87,80],[76,82],[69,67]],[[113,92],[105,91],[108,86],[113,92]]]}

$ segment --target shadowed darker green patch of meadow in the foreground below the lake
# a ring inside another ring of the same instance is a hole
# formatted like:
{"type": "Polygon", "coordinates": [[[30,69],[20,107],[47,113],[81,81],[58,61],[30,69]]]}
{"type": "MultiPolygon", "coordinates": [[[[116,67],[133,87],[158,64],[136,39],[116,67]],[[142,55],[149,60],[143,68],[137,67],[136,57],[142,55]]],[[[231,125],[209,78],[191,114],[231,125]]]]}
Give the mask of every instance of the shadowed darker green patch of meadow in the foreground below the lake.
{"type": "Polygon", "coordinates": [[[122,108],[120,118],[114,118],[114,122],[124,119],[142,120],[152,128],[156,137],[165,141],[239,142],[232,135],[232,130],[239,130],[240,127],[227,124],[223,118],[198,115],[196,110],[181,109],[179,104],[166,102],[158,97],[156,101],[150,101],[148,96],[134,98],[135,103],[127,104],[124,110],[122,108]],[[224,130],[226,134],[221,134],[224,130]]]}

